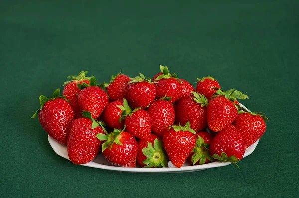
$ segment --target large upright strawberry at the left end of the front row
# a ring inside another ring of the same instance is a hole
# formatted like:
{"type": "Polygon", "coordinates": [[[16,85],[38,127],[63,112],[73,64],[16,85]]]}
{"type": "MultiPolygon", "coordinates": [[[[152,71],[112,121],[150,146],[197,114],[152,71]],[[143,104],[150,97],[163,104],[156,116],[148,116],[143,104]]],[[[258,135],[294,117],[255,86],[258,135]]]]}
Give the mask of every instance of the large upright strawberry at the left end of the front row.
{"type": "Polygon", "coordinates": [[[67,153],[71,162],[86,164],[95,159],[103,143],[96,135],[107,133],[103,125],[93,119],[88,111],[83,111],[83,118],[72,122],[67,140],[67,153]]]}

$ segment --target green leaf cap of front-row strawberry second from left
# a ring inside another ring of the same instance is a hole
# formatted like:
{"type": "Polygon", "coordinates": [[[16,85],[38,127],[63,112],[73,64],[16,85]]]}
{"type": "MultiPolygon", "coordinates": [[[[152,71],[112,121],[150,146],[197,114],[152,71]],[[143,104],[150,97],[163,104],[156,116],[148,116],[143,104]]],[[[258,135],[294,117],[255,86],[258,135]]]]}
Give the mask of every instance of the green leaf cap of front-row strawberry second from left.
{"type": "Polygon", "coordinates": [[[120,140],[119,140],[119,135],[125,131],[126,126],[124,127],[124,129],[122,131],[118,130],[118,129],[113,129],[114,131],[107,134],[97,134],[96,137],[98,139],[100,139],[101,141],[105,141],[102,144],[102,152],[109,147],[109,150],[111,150],[111,147],[114,143],[118,144],[118,145],[123,145],[120,140]]]}

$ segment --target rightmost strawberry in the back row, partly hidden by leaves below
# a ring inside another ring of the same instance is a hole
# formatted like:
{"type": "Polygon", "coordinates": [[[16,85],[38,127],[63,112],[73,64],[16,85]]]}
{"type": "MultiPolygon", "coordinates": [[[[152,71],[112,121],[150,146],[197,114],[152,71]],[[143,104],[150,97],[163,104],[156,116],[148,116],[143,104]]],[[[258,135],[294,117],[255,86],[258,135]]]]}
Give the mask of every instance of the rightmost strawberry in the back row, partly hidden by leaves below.
{"type": "Polygon", "coordinates": [[[214,93],[217,91],[213,89],[213,87],[220,89],[220,85],[211,76],[203,77],[201,79],[197,78],[197,86],[196,91],[202,95],[204,95],[208,100],[214,95],[214,93]]]}

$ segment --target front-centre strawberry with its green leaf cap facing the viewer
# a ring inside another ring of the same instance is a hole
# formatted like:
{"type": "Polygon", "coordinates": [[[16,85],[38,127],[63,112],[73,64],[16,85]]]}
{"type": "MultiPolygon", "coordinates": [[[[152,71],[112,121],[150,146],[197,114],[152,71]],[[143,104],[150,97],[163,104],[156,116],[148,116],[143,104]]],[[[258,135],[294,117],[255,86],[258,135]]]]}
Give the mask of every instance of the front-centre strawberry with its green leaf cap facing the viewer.
{"type": "Polygon", "coordinates": [[[150,134],[148,139],[138,140],[138,151],[136,161],[142,167],[168,167],[169,159],[164,152],[162,140],[150,134]]]}

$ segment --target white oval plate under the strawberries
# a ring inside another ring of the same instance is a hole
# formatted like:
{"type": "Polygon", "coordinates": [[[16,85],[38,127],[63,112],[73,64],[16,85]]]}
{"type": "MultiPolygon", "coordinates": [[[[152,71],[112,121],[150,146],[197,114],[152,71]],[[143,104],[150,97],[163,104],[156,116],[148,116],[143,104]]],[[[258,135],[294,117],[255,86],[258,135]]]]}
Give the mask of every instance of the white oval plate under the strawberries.
{"type": "MultiPolygon", "coordinates": [[[[240,105],[244,107],[241,103],[240,105]]],[[[246,107],[244,107],[247,109],[246,107]]],[[[248,110],[248,109],[247,109],[248,110]]],[[[249,111],[249,110],[248,110],[249,111]]],[[[69,159],[68,154],[67,154],[67,149],[66,146],[55,141],[52,137],[48,136],[48,141],[53,148],[54,152],[65,158],[69,159]]],[[[255,148],[257,147],[259,143],[259,140],[257,140],[254,144],[249,146],[245,154],[243,156],[247,157],[250,155],[255,148]]],[[[119,167],[111,164],[108,162],[105,157],[102,155],[102,153],[99,153],[93,161],[86,163],[86,164],[81,164],[82,166],[88,166],[88,167],[93,167],[93,168],[100,168],[100,169],[106,169],[106,170],[113,170],[113,171],[122,171],[122,172],[135,172],[135,173],[181,173],[181,172],[192,172],[192,171],[202,171],[208,168],[215,168],[215,167],[221,167],[221,166],[227,166],[231,164],[230,162],[211,162],[208,164],[202,164],[202,165],[192,165],[190,162],[186,161],[184,165],[180,168],[176,168],[173,166],[171,162],[169,162],[169,167],[167,168],[142,168],[142,167],[134,167],[134,168],[124,168],[124,167],[119,167]]]]}

